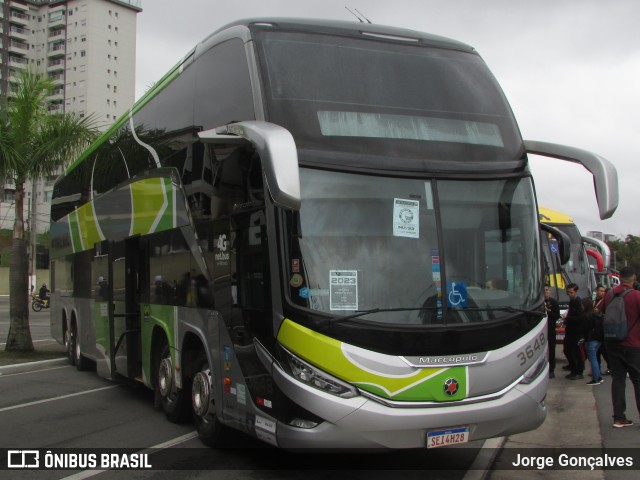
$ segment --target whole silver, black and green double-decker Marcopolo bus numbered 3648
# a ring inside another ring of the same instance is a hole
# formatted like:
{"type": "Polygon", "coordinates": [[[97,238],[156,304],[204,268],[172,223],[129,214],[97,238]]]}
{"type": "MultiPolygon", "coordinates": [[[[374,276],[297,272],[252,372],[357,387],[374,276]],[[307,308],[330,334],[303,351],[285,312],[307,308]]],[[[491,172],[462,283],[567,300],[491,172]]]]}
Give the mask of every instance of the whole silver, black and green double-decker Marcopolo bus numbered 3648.
{"type": "Polygon", "coordinates": [[[471,47],[255,19],[198,44],[56,182],[52,334],[205,444],[429,448],[546,415],[525,142],[471,47]]]}

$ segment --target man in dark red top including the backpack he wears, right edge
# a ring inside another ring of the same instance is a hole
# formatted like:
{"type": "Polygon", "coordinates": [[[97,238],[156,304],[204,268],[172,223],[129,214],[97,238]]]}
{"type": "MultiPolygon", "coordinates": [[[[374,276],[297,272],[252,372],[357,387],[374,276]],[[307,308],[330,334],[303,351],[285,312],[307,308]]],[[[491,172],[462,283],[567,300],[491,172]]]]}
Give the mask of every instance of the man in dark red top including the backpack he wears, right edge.
{"type": "Polygon", "coordinates": [[[607,292],[600,304],[603,313],[605,349],[611,369],[613,427],[633,425],[625,415],[627,373],[633,384],[640,414],[640,291],[634,290],[633,268],[620,270],[620,285],[607,292]]]}

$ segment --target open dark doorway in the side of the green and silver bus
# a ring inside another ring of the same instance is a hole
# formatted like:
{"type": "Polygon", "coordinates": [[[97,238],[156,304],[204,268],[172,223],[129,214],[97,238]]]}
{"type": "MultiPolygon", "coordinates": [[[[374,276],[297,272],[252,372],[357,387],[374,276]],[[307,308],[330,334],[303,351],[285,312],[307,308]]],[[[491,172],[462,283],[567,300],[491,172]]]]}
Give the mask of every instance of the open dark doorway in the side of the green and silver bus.
{"type": "Polygon", "coordinates": [[[112,244],[110,265],[111,371],[128,378],[138,378],[142,375],[141,305],[149,302],[147,240],[131,237],[112,244]]]}

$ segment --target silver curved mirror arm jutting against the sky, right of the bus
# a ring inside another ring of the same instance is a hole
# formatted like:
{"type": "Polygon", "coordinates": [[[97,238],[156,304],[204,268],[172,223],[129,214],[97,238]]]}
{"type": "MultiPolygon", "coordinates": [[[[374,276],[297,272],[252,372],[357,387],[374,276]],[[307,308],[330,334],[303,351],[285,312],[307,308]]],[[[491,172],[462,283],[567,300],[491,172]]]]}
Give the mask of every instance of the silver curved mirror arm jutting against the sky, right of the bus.
{"type": "Polygon", "coordinates": [[[524,147],[527,154],[558,158],[582,165],[593,175],[600,219],[610,218],[616,211],[618,208],[618,172],[609,160],[587,150],[556,143],[525,140],[524,147]]]}

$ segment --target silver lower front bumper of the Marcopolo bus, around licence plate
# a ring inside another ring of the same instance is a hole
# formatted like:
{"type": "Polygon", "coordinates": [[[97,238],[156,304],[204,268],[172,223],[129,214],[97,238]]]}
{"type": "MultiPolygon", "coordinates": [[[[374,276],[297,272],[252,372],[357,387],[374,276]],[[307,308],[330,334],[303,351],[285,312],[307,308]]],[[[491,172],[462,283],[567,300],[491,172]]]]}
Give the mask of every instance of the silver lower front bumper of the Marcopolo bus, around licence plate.
{"type": "Polygon", "coordinates": [[[478,403],[426,408],[394,408],[364,396],[344,399],[304,385],[279,368],[280,389],[325,419],[314,428],[279,422],[277,443],[284,449],[425,448],[430,431],[468,427],[469,441],[533,430],[546,417],[546,370],[530,384],[517,384],[503,396],[478,403]]]}

